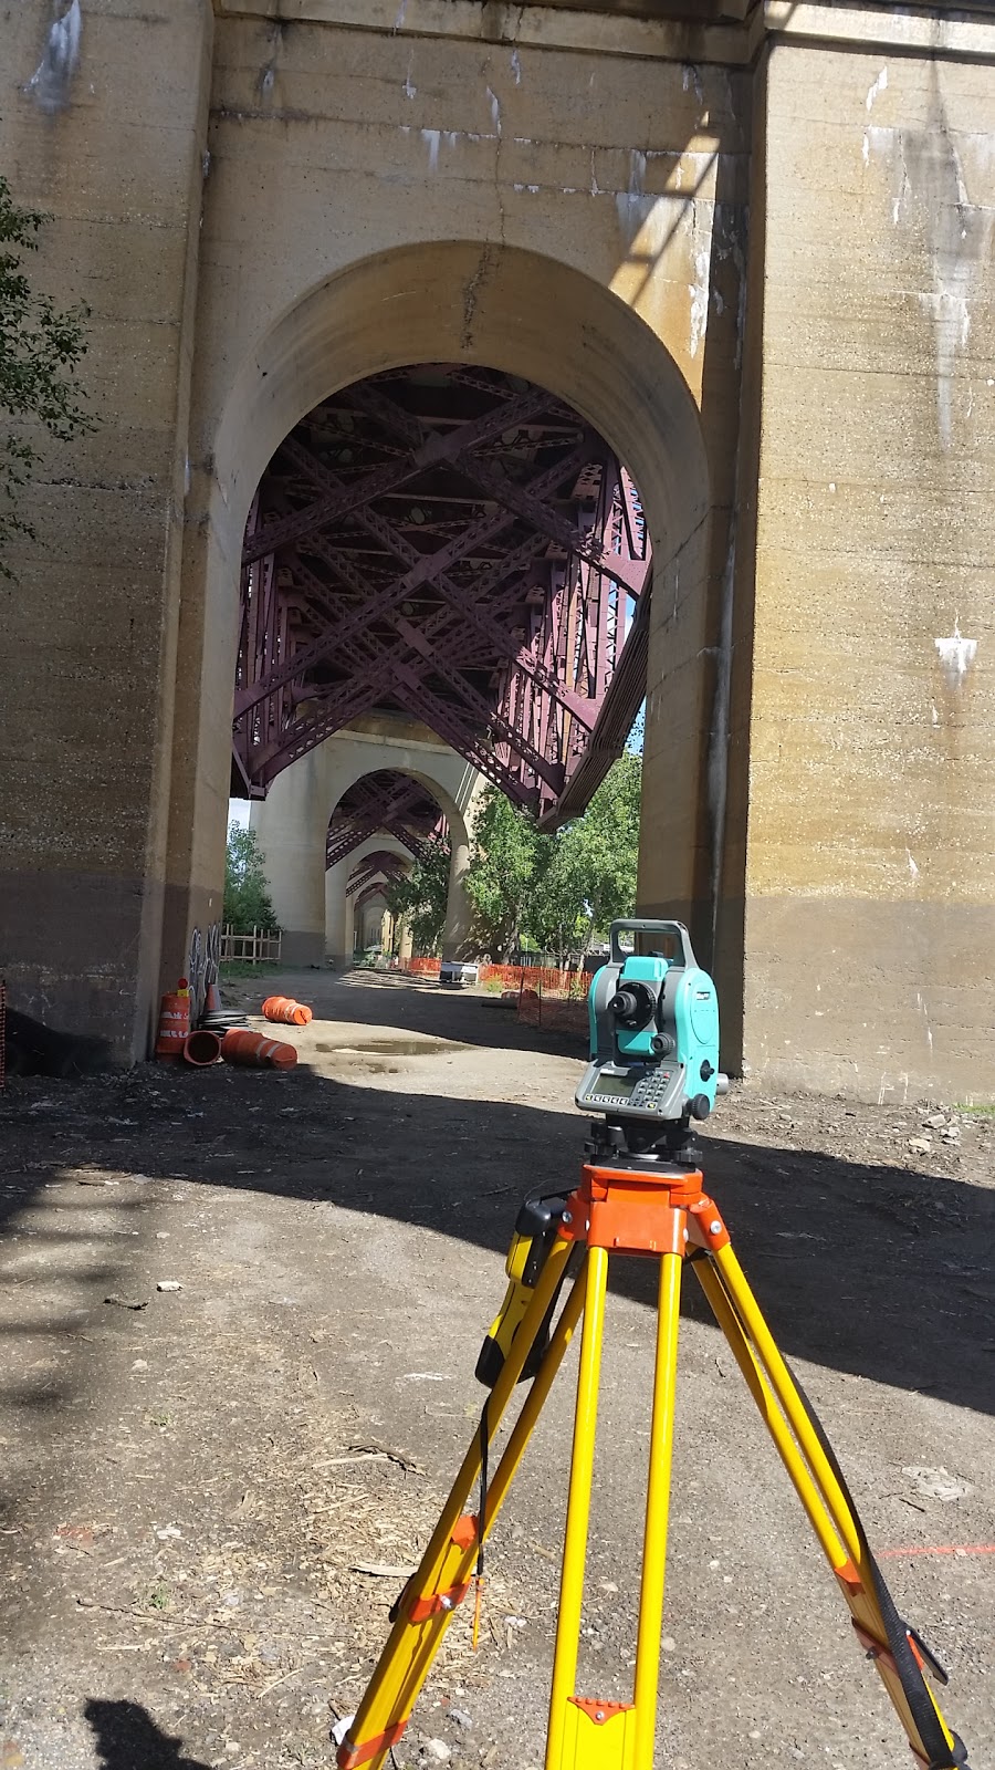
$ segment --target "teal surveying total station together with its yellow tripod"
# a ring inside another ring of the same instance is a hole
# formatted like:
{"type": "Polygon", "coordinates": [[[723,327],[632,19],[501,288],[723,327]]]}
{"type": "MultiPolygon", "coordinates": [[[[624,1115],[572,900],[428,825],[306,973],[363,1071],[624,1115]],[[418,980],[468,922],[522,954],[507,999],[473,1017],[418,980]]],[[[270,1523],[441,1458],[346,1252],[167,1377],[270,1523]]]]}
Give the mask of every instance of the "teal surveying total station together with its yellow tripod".
{"type": "MultiPolygon", "coordinates": [[[[487,1386],[480,1430],[418,1572],[391,1611],[393,1628],[338,1747],[340,1770],[381,1770],[400,1740],[455,1609],[483,1577],[483,1543],[582,1319],[577,1407],[545,1770],[653,1770],[664,1566],[671,1485],[680,1281],[690,1266],[756,1400],[816,1538],[924,1770],[967,1770],[928,1678],[947,1674],[898,1614],[825,1432],[791,1377],[705,1191],[692,1120],[726,1092],[719,1073],[715,984],[680,922],[611,926],[611,958],[593,977],[591,1060],[577,1106],[597,1113],[581,1184],[526,1198],[506,1260],[508,1290],[476,1365],[487,1386]],[[623,935],[630,936],[623,947],[623,935]],[[641,947],[643,950],[636,950],[641,947]],[[657,1358],[646,1526],[630,1703],[575,1694],[584,1559],[607,1269],[613,1253],[659,1266],[657,1358]],[[558,1312],[561,1292],[572,1281],[558,1312]],[[515,1384],[526,1400],[489,1478],[489,1451],[515,1384]],[[480,1485],[478,1510],[469,1501],[480,1485]]],[[[338,1735],[336,1735],[338,1736],[338,1735]]],[[[731,1766],[729,1766],[731,1770],[731,1766]]]]}

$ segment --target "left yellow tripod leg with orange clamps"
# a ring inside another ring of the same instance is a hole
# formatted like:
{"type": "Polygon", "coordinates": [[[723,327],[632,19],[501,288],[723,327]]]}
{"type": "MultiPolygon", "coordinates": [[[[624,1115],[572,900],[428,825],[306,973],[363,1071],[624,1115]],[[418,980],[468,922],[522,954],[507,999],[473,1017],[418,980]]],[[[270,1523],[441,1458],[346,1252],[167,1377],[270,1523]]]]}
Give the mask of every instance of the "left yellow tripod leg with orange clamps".
{"type": "MultiPolygon", "coordinates": [[[[570,1253],[572,1243],[558,1241],[544,1264],[529,1306],[501,1366],[501,1375],[498,1377],[498,1382],[487,1400],[489,1439],[494,1437],[501,1416],[508,1407],[549,1303],[561,1281],[570,1253]]],[[[508,1439],[501,1462],[494,1471],[494,1480],[489,1489],[487,1513],[482,1520],[467,1515],[464,1510],[480,1476],[480,1434],[474,1434],[432,1540],[421,1558],[418,1574],[409,1581],[397,1604],[397,1620],[374,1676],[366,1685],[356,1717],[349,1726],[349,1735],[338,1749],[336,1761],[340,1770],[356,1770],[358,1765],[370,1765],[372,1770],[381,1770],[391,1745],[395,1745],[404,1733],[418,1692],[428,1676],[432,1660],[436,1658],[443,1635],[451,1621],[453,1611],[469,1589],[473,1565],[478,1552],[478,1533],[483,1528],[483,1533],[487,1535],[494,1524],[498,1508],[508,1492],[529,1432],[538,1418],[542,1400],[549,1393],[556,1370],[563,1359],[567,1345],[570,1343],[570,1335],[581,1313],[582,1297],[584,1287],[581,1274],[563,1306],[551,1345],[533,1379],[533,1386],[508,1439]]]]}

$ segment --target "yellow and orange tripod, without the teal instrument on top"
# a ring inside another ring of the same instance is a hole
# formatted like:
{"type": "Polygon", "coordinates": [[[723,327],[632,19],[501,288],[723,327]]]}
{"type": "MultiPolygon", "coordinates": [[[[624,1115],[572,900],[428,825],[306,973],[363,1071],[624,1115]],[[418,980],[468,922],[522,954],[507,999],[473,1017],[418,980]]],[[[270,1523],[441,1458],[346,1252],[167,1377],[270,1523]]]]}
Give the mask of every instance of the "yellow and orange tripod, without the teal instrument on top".
{"type": "Polygon", "coordinates": [[[690,1264],[788,1469],[798,1499],[839,1581],[857,1641],[873,1658],[926,1770],[967,1770],[924,1673],[945,1683],[942,1666],[898,1616],[846,1483],[821,1427],[793,1381],[729,1244],[726,1225],[696,1168],[659,1158],[605,1156],[582,1170],[575,1193],[533,1204],[508,1255],[510,1287],[478,1365],[494,1381],[480,1434],[469,1446],[443,1515],[400,1595],[393,1630],[347,1736],[340,1770],[381,1770],[425,1683],[455,1607],[480,1575],[482,1545],[501,1510],[542,1404],[577,1322],[584,1320],[567,1501],[559,1616],[552,1658],[545,1770],[653,1770],[657,1682],[675,1420],[680,1281],[690,1264]],[[538,1204],[538,1216],[535,1214],[538,1204]],[[567,1266],[582,1260],[549,1333],[567,1266]],[[632,1703],[577,1696],[577,1650],[591,1503],[595,1418],[609,1253],[659,1260],[657,1361],[646,1483],[646,1531],[632,1703]],[[536,1352],[542,1356],[536,1363],[536,1352]],[[535,1375],[498,1467],[487,1481],[487,1448],[522,1374],[535,1375]],[[482,1478],[480,1513],[467,1512],[482,1478]]]}

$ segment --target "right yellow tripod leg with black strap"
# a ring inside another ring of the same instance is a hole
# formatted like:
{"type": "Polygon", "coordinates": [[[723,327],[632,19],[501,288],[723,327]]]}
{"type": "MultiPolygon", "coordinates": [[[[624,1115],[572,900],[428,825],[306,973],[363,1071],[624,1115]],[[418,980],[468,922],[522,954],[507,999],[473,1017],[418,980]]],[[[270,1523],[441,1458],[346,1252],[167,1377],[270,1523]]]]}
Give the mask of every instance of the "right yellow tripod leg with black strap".
{"type": "Polygon", "coordinates": [[[696,1258],[694,1271],[839,1581],[857,1639],[875,1660],[915,1758],[928,1770],[956,1770],[958,1765],[967,1770],[963,1743],[947,1728],[924,1673],[929,1669],[942,1683],[947,1676],[901,1621],[836,1457],[777,1349],[731,1246],[712,1246],[708,1262],[696,1258]]]}

